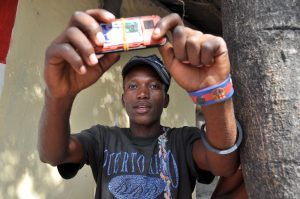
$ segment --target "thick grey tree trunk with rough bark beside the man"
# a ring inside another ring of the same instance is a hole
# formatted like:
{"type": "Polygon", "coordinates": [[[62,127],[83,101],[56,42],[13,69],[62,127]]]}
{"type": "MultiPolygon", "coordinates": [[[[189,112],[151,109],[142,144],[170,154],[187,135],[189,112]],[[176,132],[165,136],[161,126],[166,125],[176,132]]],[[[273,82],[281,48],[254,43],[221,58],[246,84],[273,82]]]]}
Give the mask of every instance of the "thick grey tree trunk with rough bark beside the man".
{"type": "Polygon", "coordinates": [[[222,1],[250,198],[300,198],[299,4],[222,1]]]}

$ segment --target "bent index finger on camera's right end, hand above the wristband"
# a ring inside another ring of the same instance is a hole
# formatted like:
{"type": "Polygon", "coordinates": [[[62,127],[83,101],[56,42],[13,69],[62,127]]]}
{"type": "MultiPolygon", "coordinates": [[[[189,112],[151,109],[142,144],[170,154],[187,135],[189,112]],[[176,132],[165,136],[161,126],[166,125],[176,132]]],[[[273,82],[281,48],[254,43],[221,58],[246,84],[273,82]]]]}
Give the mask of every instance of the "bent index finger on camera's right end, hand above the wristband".
{"type": "Polygon", "coordinates": [[[172,13],[162,18],[155,26],[152,34],[153,39],[161,39],[168,31],[173,30],[176,26],[183,26],[183,21],[176,13],[172,13]]]}

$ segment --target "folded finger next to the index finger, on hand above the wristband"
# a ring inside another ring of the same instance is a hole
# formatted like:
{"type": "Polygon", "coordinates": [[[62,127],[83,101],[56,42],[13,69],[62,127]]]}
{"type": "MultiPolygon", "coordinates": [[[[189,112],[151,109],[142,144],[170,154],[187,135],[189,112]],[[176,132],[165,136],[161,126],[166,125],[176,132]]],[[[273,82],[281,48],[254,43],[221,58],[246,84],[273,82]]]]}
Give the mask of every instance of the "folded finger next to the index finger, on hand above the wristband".
{"type": "Polygon", "coordinates": [[[187,60],[186,38],[184,26],[176,26],[173,30],[173,49],[175,57],[180,61],[187,60]]]}

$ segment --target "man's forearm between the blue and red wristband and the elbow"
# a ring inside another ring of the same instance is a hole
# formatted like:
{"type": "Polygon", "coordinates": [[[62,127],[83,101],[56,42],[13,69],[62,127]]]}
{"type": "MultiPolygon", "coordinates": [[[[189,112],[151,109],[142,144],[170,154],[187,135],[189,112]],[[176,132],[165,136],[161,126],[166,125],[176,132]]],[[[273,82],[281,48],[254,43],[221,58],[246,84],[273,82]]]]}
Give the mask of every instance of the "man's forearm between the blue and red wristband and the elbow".
{"type": "MultiPolygon", "coordinates": [[[[214,148],[224,150],[232,147],[237,138],[236,121],[232,100],[202,108],[207,142],[214,148]]],[[[237,151],[228,155],[218,155],[206,150],[210,168],[217,175],[230,176],[238,166],[237,151]]]]}

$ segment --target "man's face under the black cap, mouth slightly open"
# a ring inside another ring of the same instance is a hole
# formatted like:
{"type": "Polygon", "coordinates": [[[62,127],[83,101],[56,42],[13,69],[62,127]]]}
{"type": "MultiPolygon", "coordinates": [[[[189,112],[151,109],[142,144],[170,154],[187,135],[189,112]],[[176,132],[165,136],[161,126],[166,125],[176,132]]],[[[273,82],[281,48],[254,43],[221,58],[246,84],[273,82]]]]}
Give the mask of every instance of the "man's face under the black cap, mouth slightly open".
{"type": "Polygon", "coordinates": [[[130,123],[151,125],[160,122],[168,95],[158,74],[149,66],[135,66],[124,79],[123,105],[130,123]]]}

